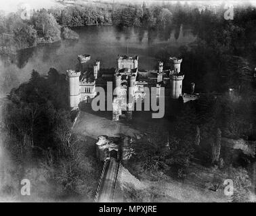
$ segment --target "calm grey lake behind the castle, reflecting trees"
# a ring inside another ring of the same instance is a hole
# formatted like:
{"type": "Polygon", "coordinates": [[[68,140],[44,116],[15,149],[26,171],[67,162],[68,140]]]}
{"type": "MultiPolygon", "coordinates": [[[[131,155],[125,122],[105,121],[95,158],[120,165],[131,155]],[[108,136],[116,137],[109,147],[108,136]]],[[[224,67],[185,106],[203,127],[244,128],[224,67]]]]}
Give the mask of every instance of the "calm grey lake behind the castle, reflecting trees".
{"type": "Polygon", "coordinates": [[[139,56],[140,69],[152,69],[161,54],[178,55],[179,47],[196,39],[184,26],[166,32],[142,28],[119,30],[114,26],[86,26],[74,30],[79,33],[79,40],[39,45],[19,51],[15,59],[0,59],[1,97],[26,82],[32,70],[46,75],[49,68],[56,68],[60,73],[76,68],[78,54],[91,55],[89,64],[100,59],[102,68],[115,68],[117,55],[127,54],[128,47],[129,55],[139,56]]]}

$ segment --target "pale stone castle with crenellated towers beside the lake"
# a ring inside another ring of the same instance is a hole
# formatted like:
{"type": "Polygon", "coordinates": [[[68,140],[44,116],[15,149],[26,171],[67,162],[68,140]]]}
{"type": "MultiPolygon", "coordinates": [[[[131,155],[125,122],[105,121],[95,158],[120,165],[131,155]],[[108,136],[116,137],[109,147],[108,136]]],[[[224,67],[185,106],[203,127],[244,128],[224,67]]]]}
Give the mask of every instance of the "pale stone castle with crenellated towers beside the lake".
{"type": "MultiPolygon", "coordinates": [[[[92,72],[84,71],[83,66],[90,60],[90,55],[78,55],[81,70],[67,70],[69,103],[71,109],[77,109],[81,101],[90,103],[97,95],[96,86],[106,87],[106,82],[113,81],[115,96],[112,100],[112,119],[118,121],[120,116],[125,115],[131,119],[136,101],[148,97],[147,89],[156,88],[156,97],[161,97],[161,87],[169,91],[171,99],[182,97],[184,102],[197,99],[194,94],[194,83],[192,83],[192,94],[182,94],[182,81],[184,73],[181,72],[182,59],[170,57],[171,69],[164,70],[163,62],[158,62],[158,70],[139,70],[139,57],[118,55],[116,69],[100,70],[100,61],[95,61],[92,72]],[[128,99],[129,97],[129,99],[128,99]]],[[[162,95],[165,96],[165,95],[162,95]]]]}

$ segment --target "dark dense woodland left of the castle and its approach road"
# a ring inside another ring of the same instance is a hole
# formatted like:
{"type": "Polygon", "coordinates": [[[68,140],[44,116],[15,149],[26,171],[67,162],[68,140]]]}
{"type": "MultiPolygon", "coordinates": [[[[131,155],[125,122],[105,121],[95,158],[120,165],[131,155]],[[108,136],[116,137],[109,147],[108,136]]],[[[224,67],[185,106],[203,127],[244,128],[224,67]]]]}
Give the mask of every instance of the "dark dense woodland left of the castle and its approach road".
{"type": "Polygon", "coordinates": [[[79,148],[85,139],[71,132],[75,115],[68,110],[66,92],[66,77],[51,68],[47,78],[33,71],[28,82],[1,101],[3,149],[12,161],[1,190],[7,200],[19,198],[24,176],[30,176],[37,194],[30,201],[92,200],[100,167],[91,149],[84,154],[79,148]]]}

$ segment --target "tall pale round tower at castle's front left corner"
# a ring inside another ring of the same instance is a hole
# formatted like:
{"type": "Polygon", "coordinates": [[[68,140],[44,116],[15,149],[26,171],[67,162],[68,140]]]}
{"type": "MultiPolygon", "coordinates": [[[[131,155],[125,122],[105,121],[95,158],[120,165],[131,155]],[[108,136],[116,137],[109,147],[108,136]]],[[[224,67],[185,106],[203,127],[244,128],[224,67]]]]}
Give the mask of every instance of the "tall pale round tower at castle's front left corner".
{"type": "Polygon", "coordinates": [[[74,70],[67,70],[66,76],[68,80],[68,94],[69,94],[69,105],[71,109],[78,108],[80,103],[80,86],[79,86],[79,76],[81,72],[76,72],[74,70]]]}

